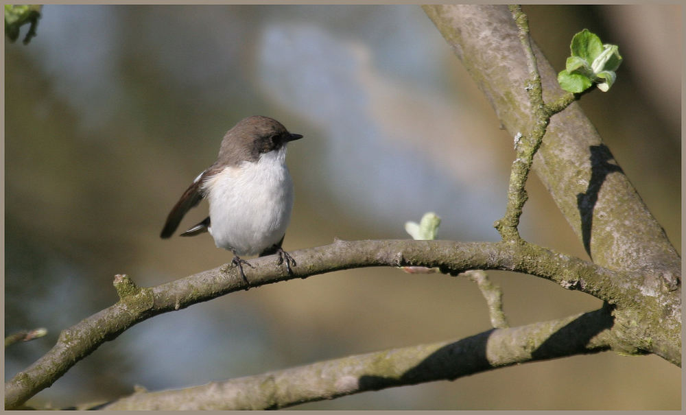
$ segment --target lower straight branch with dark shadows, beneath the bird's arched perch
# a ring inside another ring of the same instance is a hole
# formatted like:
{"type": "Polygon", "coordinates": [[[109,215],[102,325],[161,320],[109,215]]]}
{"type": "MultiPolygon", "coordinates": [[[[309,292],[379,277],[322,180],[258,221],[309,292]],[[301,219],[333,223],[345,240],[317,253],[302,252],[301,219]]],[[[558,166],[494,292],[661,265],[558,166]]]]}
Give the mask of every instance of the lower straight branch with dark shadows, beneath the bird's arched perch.
{"type": "Polygon", "coordinates": [[[494,368],[607,350],[608,309],[493,329],[462,340],[394,348],[202,386],[139,392],[105,410],[268,410],[368,390],[455,380],[494,368]]]}

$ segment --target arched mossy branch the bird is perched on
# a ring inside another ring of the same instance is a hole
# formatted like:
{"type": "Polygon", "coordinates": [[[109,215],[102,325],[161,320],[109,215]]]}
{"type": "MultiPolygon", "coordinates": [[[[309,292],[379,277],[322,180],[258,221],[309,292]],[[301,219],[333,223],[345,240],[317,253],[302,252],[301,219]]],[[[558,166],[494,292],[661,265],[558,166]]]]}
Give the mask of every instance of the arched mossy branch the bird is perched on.
{"type": "MultiPolygon", "coordinates": [[[[638,285],[615,285],[615,272],[593,263],[531,244],[453,241],[342,241],[291,252],[298,266],[293,274],[277,265],[277,256],[251,260],[246,269],[252,287],[336,270],[374,266],[438,267],[457,275],[471,269],[507,270],[546,278],[567,289],[578,289],[609,303],[624,304],[640,296],[638,285]]],[[[626,276],[625,281],[640,278],[626,276]]],[[[126,276],[115,277],[119,302],[60,333],[57,344],[32,366],[5,384],[5,407],[17,407],[50,386],[77,361],[102,343],[147,318],[189,307],[246,285],[229,264],[152,288],[136,287],[126,276]]]]}

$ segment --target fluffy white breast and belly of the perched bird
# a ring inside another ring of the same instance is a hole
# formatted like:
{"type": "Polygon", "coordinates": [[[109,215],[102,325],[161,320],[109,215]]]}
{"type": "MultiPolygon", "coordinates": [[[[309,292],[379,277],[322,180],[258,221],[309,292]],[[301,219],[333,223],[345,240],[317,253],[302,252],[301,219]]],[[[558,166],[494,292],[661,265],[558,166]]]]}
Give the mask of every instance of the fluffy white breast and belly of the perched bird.
{"type": "Polygon", "coordinates": [[[255,163],[226,167],[204,183],[209,232],[218,248],[256,255],[281,240],[293,207],[285,157],[284,146],[262,154],[255,163]]]}

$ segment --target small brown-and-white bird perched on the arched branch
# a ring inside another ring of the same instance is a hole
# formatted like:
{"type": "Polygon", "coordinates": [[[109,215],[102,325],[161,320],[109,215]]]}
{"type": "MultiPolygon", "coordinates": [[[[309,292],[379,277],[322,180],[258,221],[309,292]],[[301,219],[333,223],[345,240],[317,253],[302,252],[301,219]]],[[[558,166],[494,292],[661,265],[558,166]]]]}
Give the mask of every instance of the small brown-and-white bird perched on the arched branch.
{"type": "Polygon", "coordinates": [[[217,248],[233,252],[246,284],[239,255],[279,254],[279,263],[296,261],[281,248],[293,208],[293,181],[286,167],[286,145],[303,138],[291,134],[275,119],[255,115],[241,119],[222,140],[217,161],[200,173],[171,209],[160,237],[171,237],[189,209],[202,198],[209,216],[181,233],[182,237],[209,231],[217,248]]]}

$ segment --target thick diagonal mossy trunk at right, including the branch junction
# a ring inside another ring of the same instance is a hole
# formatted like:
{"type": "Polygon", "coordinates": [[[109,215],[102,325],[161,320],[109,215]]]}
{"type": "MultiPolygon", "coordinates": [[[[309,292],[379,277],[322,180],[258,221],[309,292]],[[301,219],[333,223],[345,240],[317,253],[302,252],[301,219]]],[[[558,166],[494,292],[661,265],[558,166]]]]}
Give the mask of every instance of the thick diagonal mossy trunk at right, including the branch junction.
{"type": "MultiPolygon", "coordinates": [[[[528,79],[517,27],[505,5],[425,5],[423,9],[514,136],[532,130],[528,79]]],[[[567,45],[560,45],[567,47],[567,45]]],[[[564,93],[534,45],[546,102],[564,93]]],[[[621,76],[621,73],[619,74],[621,76]]],[[[681,257],[577,104],[555,115],[534,171],[593,259],[632,272],[615,281],[632,292],[617,303],[617,347],[681,364],[681,257]]]]}

